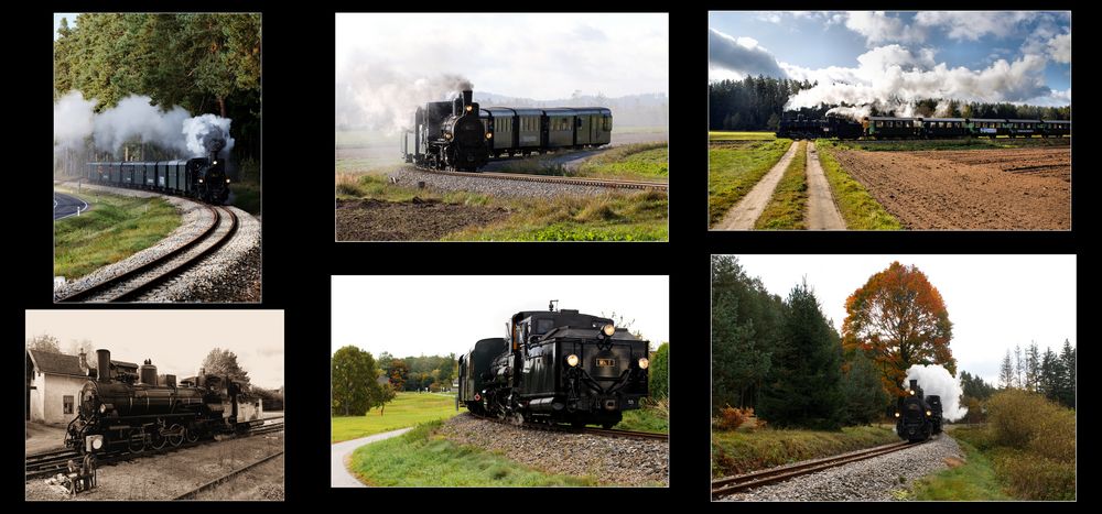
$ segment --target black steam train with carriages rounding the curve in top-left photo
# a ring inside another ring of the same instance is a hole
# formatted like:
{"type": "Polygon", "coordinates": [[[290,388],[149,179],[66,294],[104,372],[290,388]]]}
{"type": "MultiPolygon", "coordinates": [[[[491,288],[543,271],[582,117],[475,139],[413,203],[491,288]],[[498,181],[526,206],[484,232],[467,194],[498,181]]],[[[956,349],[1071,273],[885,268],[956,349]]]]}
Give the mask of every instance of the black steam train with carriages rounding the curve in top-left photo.
{"type": "Polygon", "coordinates": [[[88,163],[86,178],[112,187],[149,189],[222,205],[229,198],[226,160],[218,153],[225,140],[215,140],[209,157],[186,161],[88,163]]]}

